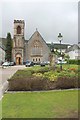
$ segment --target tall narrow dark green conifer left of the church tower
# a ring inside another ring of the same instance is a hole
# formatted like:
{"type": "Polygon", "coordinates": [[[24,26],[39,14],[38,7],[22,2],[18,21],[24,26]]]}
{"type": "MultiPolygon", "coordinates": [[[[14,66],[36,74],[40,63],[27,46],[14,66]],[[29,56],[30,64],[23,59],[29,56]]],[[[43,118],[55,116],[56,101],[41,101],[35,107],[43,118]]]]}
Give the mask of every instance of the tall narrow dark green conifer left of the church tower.
{"type": "Polygon", "coordinates": [[[12,60],[12,39],[11,34],[7,33],[7,43],[6,43],[6,60],[11,61],[12,60]]]}

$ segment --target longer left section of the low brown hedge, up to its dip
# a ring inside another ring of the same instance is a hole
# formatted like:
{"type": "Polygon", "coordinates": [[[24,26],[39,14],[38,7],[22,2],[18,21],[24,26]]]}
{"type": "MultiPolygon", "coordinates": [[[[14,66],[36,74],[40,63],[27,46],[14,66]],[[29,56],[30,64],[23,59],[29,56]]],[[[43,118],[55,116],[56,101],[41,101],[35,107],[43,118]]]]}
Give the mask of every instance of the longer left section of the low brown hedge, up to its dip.
{"type": "Polygon", "coordinates": [[[53,88],[54,84],[41,77],[27,77],[9,81],[10,91],[48,90],[53,88]]]}

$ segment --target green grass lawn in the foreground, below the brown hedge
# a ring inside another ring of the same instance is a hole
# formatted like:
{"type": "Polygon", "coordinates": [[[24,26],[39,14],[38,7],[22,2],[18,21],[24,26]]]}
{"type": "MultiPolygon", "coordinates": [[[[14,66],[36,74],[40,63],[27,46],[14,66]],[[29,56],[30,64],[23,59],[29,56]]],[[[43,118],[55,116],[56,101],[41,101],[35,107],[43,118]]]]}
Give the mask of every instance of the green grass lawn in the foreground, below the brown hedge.
{"type": "Polygon", "coordinates": [[[3,118],[75,118],[78,91],[7,93],[2,100],[3,118]]]}

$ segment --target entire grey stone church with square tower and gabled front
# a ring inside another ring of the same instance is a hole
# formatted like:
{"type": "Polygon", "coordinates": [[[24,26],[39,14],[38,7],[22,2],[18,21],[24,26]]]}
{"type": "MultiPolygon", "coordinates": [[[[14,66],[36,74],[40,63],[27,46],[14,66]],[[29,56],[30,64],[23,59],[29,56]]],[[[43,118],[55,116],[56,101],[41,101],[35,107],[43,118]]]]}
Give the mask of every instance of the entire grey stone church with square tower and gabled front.
{"type": "Polygon", "coordinates": [[[46,42],[37,31],[30,37],[29,40],[24,38],[24,20],[14,20],[14,37],[12,59],[19,65],[27,60],[39,63],[49,60],[50,49],[46,42]]]}

